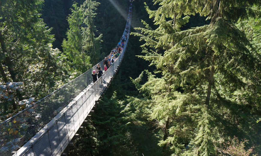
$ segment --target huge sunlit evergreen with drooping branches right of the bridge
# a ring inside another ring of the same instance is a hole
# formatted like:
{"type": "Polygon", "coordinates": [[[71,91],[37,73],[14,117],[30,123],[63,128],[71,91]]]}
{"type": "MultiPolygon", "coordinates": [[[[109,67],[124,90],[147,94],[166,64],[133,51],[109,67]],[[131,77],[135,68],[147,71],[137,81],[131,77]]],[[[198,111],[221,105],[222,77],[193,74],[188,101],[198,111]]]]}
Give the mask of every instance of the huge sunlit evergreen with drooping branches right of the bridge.
{"type": "Polygon", "coordinates": [[[255,81],[260,79],[260,75],[256,74],[259,73],[260,59],[244,32],[234,22],[260,15],[258,10],[251,8],[254,5],[260,6],[260,1],[155,2],[160,5],[158,10],[152,11],[148,7],[146,10],[158,28],[152,30],[145,23],[146,29],[137,28],[142,30],[142,34],[134,35],[146,42],[143,45],[146,56],[140,57],[149,60],[163,76],[163,80],[149,79],[141,88],[141,92],[149,91],[148,95],[154,103],[167,100],[152,107],[152,116],[155,113],[162,114],[164,116],[158,117],[161,120],[165,118],[166,123],[170,119],[165,116],[170,114],[168,111],[172,112],[171,117],[180,117],[175,119],[179,124],[174,123],[169,128],[169,137],[166,139],[164,135],[161,143],[170,143],[176,154],[216,155],[215,146],[222,146],[218,140],[226,140],[233,135],[247,137],[245,132],[253,140],[258,131],[249,127],[256,129],[253,116],[259,115],[260,101],[246,102],[245,99],[239,99],[237,94],[242,89],[259,90],[260,85],[256,85],[255,81]],[[184,20],[182,14],[196,13],[208,16],[210,24],[175,31],[176,22],[184,20]],[[171,20],[167,21],[168,19],[171,20]],[[156,51],[149,52],[146,46],[156,51]],[[160,54],[162,51],[163,56],[160,54]],[[163,87],[158,87],[160,84],[163,87]],[[180,88],[182,94],[173,93],[180,88]],[[184,124],[178,121],[180,119],[184,124]],[[179,134],[184,129],[190,129],[187,134],[195,135],[179,134]],[[187,141],[177,143],[176,140],[181,139],[182,135],[187,136],[187,141]],[[183,152],[185,147],[187,149],[183,152]]]}

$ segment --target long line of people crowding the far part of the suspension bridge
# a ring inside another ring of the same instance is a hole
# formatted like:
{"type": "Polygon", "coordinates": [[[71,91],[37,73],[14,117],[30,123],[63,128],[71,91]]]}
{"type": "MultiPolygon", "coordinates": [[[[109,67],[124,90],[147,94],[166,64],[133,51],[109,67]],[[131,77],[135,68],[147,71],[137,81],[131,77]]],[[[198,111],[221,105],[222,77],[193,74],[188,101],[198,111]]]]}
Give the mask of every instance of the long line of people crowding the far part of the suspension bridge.
{"type": "MultiPolygon", "coordinates": [[[[130,10],[129,10],[129,14],[128,14],[128,19],[127,19],[127,25],[129,23],[129,19],[131,18],[131,8],[132,8],[132,0],[131,0],[130,10]]],[[[113,63],[119,58],[119,56],[121,55],[122,50],[125,46],[125,43],[127,41],[129,30],[130,30],[130,27],[126,26],[125,31],[124,31],[125,33],[122,35],[117,46],[115,48],[113,48],[113,50],[110,52],[110,54],[107,57],[104,58],[104,60],[103,60],[103,69],[104,70],[102,70],[100,65],[97,64],[97,67],[95,68],[95,70],[92,71],[91,76],[93,77],[93,82],[96,82],[104,74],[104,72],[106,72],[113,65],[113,63]],[[97,78],[97,76],[98,76],[98,78],[97,78]]]]}

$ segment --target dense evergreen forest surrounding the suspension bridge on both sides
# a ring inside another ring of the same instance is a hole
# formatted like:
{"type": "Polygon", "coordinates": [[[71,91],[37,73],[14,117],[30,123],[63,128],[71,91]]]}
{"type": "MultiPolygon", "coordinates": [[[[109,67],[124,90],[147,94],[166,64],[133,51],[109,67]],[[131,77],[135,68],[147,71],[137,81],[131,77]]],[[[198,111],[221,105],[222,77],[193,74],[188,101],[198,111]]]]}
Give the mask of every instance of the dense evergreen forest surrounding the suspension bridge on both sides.
{"type": "MultiPolygon", "coordinates": [[[[128,5],[0,1],[0,120],[102,60],[128,5]]],[[[69,155],[260,155],[260,26],[259,0],[135,0],[123,63],[69,155]]]]}

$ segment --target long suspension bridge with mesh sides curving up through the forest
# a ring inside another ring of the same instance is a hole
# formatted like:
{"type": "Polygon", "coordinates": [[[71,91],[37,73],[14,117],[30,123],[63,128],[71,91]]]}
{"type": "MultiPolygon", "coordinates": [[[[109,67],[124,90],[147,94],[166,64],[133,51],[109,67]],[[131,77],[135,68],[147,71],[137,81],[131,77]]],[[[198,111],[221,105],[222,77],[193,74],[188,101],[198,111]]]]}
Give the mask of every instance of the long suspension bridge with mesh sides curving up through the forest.
{"type": "MultiPolygon", "coordinates": [[[[131,26],[131,10],[126,27],[131,26]]],[[[125,55],[125,46],[108,70],[95,82],[91,73],[95,66],[43,99],[0,124],[0,155],[62,155],[82,123],[110,85],[125,55]]],[[[98,63],[103,66],[103,60],[98,63]]]]}

